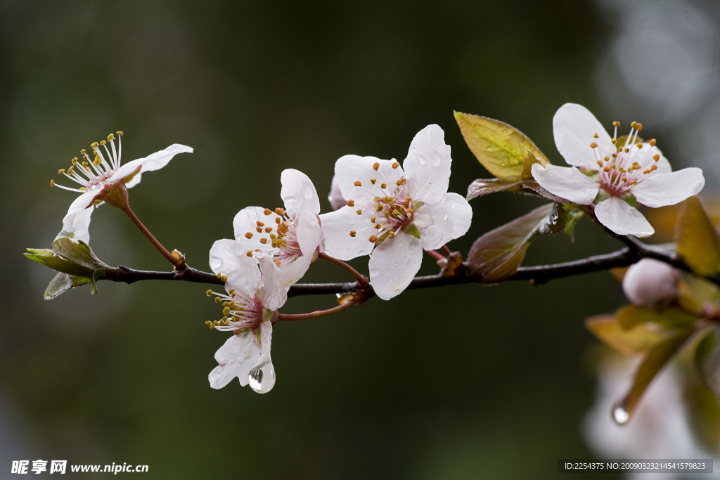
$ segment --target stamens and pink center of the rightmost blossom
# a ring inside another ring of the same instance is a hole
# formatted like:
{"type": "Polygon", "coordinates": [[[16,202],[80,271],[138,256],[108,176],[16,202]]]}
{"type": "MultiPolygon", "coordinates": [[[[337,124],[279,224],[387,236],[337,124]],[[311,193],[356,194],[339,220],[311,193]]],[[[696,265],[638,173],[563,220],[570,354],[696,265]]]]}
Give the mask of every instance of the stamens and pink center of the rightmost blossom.
{"type": "MultiPolygon", "coordinates": [[[[628,194],[632,186],[657,170],[655,163],[660,160],[660,154],[652,155],[650,150],[655,146],[655,139],[643,143],[642,139],[638,137],[638,133],[642,130],[642,123],[632,122],[630,133],[626,137],[618,139],[619,126],[620,122],[613,122],[615,130],[610,145],[590,143],[590,148],[595,151],[596,162],[600,167],[600,177],[598,178],[600,188],[607,194],[618,197],[628,194]]],[[[597,133],[594,136],[598,138],[597,133]]]]}

